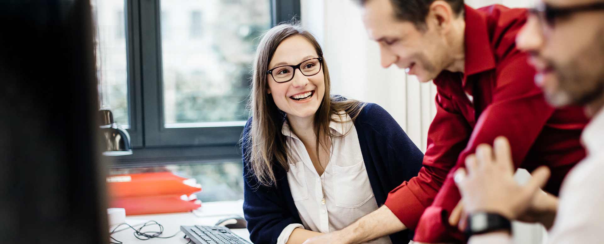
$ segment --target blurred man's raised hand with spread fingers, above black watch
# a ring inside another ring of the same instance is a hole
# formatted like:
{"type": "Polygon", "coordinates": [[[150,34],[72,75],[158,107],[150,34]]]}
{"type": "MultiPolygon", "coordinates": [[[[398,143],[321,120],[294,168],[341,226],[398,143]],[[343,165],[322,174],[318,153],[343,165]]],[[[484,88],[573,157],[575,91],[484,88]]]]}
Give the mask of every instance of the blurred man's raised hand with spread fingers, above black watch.
{"type": "MultiPolygon", "coordinates": [[[[495,152],[487,144],[476,149],[476,155],[466,157],[466,169],[455,172],[455,183],[463,196],[466,213],[487,211],[501,214],[510,220],[519,219],[532,208],[541,207],[539,190],[550,176],[547,167],[539,167],[524,186],[514,181],[512,153],[507,139],[500,136],[493,143],[495,152]]],[[[548,199],[546,199],[548,201],[548,199]]],[[[539,209],[539,208],[538,208],[539,209]]]]}

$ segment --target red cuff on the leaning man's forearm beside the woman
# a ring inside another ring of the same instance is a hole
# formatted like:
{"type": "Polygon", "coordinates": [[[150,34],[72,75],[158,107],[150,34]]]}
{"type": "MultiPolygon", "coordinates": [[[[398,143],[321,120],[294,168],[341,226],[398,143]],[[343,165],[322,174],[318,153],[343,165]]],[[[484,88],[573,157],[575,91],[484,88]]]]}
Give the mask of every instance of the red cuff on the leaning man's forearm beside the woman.
{"type": "Polygon", "coordinates": [[[403,184],[390,191],[384,205],[399,218],[403,225],[415,229],[425,207],[407,184],[408,182],[403,182],[403,184]]]}

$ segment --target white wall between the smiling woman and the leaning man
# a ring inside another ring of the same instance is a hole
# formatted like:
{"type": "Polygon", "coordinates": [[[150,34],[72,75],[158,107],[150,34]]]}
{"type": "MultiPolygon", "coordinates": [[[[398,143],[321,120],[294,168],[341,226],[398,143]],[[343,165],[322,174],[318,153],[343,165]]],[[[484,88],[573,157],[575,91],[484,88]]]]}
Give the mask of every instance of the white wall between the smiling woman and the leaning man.
{"type": "MultiPolygon", "coordinates": [[[[474,8],[490,4],[530,7],[530,0],[466,0],[474,8]]],[[[413,76],[392,66],[380,66],[377,43],[368,40],[360,9],[352,0],[301,0],[303,25],[323,46],[332,78],[332,94],[341,94],[384,107],[411,140],[426,150],[428,126],[435,114],[435,86],[420,84],[413,76]]],[[[518,181],[530,175],[516,174],[518,181]]],[[[540,243],[544,229],[539,225],[514,223],[515,243],[540,243]]]]}

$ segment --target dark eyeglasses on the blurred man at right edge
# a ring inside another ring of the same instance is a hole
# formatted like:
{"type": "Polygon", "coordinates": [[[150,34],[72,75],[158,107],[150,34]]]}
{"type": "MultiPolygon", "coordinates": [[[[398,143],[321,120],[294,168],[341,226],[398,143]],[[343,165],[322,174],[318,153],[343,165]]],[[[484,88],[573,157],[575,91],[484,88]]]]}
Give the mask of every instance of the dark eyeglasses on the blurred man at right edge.
{"type": "Polygon", "coordinates": [[[585,11],[598,11],[604,10],[604,2],[594,2],[592,4],[582,4],[570,7],[554,7],[548,4],[540,4],[535,8],[531,8],[530,14],[534,14],[539,20],[547,24],[548,27],[552,28],[556,25],[556,20],[570,16],[570,14],[585,12],[585,11]]]}

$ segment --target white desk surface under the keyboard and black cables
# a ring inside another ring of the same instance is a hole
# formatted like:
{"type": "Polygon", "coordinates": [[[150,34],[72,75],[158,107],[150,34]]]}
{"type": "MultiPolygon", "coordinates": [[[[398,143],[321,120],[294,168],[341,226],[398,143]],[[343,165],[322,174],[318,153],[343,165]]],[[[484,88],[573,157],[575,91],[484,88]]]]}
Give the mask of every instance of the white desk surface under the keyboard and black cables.
{"type": "MultiPolygon", "coordinates": [[[[202,207],[198,210],[188,213],[169,213],[169,214],[147,214],[147,215],[135,215],[126,216],[126,223],[129,225],[142,225],[142,223],[149,220],[155,220],[160,225],[164,226],[164,233],[162,236],[172,236],[178,232],[181,225],[214,225],[218,220],[224,219],[225,217],[238,215],[243,217],[243,201],[224,201],[224,202],[204,202],[202,207]]],[[[138,228],[134,226],[134,228],[138,228]]],[[[111,228],[110,230],[113,230],[111,228]]],[[[145,227],[143,231],[155,231],[159,230],[158,226],[145,227]]],[[[112,235],[115,239],[124,244],[129,243],[144,243],[144,244],[157,244],[157,243],[187,243],[188,239],[182,238],[184,234],[181,232],[175,237],[169,239],[154,238],[150,240],[138,240],[133,235],[134,230],[128,226],[121,226],[118,228],[119,232],[112,235]],[[127,229],[125,229],[125,228],[127,229]],[[124,230],[125,229],[125,230],[124,230]],[[122,230],[122,231],[119,231],[122,230]]],[[[231,229],[233,233],[237,234],[243,239],[249,242],[249,232],[247,229],[231,229]]],[[[250,242],[251,243],[251,242],[250,242]]]]}

